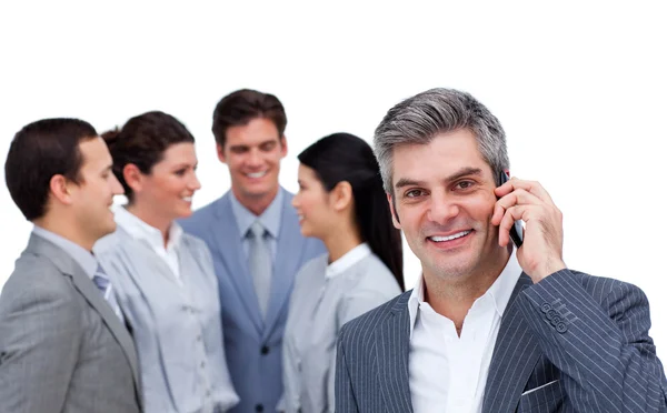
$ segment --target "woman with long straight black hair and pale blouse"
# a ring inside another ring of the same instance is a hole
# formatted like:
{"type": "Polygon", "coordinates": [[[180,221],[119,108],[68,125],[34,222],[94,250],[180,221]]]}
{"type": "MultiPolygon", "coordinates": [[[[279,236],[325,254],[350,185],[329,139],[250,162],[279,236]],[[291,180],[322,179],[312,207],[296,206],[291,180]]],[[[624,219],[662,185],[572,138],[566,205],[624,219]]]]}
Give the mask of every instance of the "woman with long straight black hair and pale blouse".
{"type": "Polygon", "coordinates": [[[334,412],[338,332],[402,291],[401,238],[368,143],[335,133],[298,158],[292,204],[301,233],[320,239],[328,253],[303,265],[295,281],[278,410],[334,412]]]}

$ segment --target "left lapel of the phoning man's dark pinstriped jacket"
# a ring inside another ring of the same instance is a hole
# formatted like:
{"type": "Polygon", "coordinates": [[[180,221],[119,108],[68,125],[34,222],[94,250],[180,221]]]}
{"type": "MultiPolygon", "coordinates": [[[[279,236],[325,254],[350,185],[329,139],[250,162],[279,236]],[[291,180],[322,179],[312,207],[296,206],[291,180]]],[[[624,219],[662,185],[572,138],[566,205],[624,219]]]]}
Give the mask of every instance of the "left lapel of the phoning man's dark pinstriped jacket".
{"type": "Polygon", "coordinates": [[[380,393],[388,412],[412,412],[408,355],[410,352],[410,314],[404,293],[386,320],[376,330],[376,352],[380,393]]]}

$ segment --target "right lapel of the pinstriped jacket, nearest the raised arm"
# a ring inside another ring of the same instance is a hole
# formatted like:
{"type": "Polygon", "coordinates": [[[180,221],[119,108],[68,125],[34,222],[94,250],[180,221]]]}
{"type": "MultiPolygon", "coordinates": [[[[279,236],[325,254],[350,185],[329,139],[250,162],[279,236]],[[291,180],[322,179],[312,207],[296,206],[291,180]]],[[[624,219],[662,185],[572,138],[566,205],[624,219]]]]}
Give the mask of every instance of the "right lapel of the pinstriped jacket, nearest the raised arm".
{"type": "Polygon", "coordinates": [[[502,314],[486,383],[482,413],[515,412],[526,382],[541,354],[537,339],[516,303],[519,293],[529,285],[532,285],[532,281],[526,273],[521,273],[502,314]]]}

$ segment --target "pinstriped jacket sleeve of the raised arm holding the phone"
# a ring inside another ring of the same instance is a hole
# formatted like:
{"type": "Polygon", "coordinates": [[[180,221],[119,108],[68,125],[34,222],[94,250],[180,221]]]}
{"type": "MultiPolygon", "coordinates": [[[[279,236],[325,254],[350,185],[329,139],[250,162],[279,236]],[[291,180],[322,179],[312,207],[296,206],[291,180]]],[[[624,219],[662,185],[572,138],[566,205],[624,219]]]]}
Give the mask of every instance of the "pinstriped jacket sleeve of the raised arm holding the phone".
{"type": "Polygon", "coordinates": [[[541,350],[561,371],[568,399],[581,412],[667,412],[646,295],[615,280],[589,282],[585,289],[561,270],[524,290],[518,301],[541,350]]]}

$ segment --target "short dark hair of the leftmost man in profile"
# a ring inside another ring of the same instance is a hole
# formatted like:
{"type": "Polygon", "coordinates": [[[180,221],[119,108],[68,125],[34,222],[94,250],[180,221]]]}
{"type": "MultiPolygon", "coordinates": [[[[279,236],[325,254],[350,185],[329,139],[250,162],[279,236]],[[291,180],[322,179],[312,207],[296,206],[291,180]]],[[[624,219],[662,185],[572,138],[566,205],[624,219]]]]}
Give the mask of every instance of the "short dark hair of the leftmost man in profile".
{"type": "Polygon", "coordinates": [[[17,132],[4,162],[4,180],[27,220],[42,218],[47,212],[53,175],[80,181],[83,157],[79,143],[97,135],[90,123],[63,118],[42,119],[17,132]]]}

